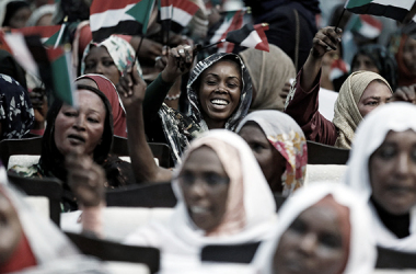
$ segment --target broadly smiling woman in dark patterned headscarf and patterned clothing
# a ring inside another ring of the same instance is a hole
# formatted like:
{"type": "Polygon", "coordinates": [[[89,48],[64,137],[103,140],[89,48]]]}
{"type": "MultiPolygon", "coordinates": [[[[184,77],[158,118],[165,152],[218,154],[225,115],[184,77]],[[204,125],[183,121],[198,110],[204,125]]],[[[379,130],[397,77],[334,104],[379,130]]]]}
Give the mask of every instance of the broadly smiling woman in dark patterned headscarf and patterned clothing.
{"type": "Polygon", "coordinates": [[[197,135],[213,128],[234,130],[249,111],[252,82],[238,55],[215,54],[199,61],[187,83],[185,115],[162,105],[159,115],[176,162],[197,135]]]}

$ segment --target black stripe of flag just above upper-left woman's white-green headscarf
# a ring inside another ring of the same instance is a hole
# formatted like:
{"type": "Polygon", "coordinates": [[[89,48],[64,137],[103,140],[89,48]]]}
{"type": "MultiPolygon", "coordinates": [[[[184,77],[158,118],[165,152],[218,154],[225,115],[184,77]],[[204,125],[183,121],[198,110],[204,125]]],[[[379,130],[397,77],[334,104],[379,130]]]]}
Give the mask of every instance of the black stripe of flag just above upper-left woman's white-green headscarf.
{"type": "Polygon", "coordinates": [[[112,34],[141,35],[141,28],[142,25],[137,21],[120,21],[117,25],[102,27],[95,32],[92,32],[92,39],[94,42],[102,42],[112,34]]]}

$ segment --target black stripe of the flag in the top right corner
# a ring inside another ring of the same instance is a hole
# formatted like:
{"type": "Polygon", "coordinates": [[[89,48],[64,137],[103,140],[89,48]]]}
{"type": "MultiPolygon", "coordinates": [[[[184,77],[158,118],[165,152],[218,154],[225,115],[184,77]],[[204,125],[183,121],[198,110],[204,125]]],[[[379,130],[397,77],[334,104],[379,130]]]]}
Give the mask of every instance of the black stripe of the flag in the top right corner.
{"type": "Polygon", "coordinates": [[[371,14],[379,16],[386,16],[402,22],[407,15],[408,10],[393,5],[383,5],[379,3],[368,3],[360,7],[347,9],[350,12],[358,14],[371,14]]]}

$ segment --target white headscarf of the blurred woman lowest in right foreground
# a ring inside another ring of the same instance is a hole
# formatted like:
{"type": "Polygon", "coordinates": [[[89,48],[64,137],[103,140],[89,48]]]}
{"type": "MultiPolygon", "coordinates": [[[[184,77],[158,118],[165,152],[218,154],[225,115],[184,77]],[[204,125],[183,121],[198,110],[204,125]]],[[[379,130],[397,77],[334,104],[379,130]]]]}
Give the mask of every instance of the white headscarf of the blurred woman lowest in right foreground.
{"type": "Polygon", "coordinates": [[[259,247],[253,264],[261,274],[273,273],[273,259],[281,235],[307,208],[327,195],[340,205],[349,208],[349,254],[344,274],[369,274],[375,265],[375,242],[371,235],[370,212],[365,199],[342,184],[316,183],[297,191],[279,210],[279,221],[274,228],[271,241],[259,247]]]}

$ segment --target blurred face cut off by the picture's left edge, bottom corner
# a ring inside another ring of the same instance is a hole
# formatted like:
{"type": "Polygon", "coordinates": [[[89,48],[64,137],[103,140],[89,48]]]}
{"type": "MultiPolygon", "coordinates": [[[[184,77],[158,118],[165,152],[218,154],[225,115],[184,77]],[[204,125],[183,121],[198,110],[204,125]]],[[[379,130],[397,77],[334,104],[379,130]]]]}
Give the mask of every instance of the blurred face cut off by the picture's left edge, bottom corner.
{"type": "Polygon", "coordinates": [[[0,266],[10,259],[21,238],[22,227],[18,213],[0,192],[0,266]]]}

